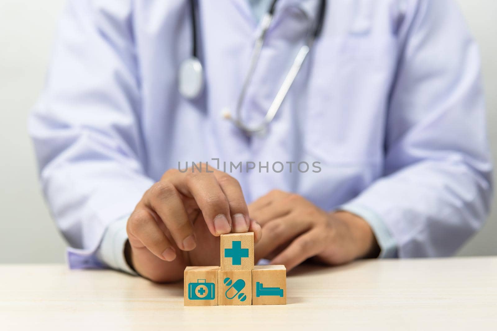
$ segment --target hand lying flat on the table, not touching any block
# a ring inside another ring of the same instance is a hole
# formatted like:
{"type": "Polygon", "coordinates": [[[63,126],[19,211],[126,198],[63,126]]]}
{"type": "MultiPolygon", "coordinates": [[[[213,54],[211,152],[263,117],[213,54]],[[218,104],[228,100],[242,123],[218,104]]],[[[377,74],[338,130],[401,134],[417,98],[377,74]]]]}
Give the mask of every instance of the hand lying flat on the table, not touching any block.
{"type": "Polygon", "coordinates": [[[255,258],[290,270],[306,259],[338,265],[377,257],[380,248],[369,224],[348,212],[328,213],[305,198],[273,190],[248,206],[262,227],[255,258]]]}

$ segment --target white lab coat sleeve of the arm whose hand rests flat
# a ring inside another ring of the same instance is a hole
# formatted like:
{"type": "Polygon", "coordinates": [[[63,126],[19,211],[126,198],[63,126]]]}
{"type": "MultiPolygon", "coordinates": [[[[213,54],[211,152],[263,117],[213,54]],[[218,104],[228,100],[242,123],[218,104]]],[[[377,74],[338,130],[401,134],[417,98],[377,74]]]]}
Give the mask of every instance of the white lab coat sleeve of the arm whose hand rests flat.
{"type": "Polygon", "coordinates": [[[343,208],[373,224],[383,256],[449,256],[482,226],[492,199],[479,52],[452,0],[411,4],[385,173],[343,208]]]}

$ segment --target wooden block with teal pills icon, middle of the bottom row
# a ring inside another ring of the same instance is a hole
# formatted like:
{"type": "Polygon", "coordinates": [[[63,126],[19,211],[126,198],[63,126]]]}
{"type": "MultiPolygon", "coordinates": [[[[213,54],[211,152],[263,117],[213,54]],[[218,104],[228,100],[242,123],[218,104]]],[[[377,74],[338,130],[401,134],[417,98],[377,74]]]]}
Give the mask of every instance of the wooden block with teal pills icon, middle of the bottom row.
{"type": "Polygon", "coordinates": [[[252,271],[218,271],[218,305],[252,304],[252,271]]]}

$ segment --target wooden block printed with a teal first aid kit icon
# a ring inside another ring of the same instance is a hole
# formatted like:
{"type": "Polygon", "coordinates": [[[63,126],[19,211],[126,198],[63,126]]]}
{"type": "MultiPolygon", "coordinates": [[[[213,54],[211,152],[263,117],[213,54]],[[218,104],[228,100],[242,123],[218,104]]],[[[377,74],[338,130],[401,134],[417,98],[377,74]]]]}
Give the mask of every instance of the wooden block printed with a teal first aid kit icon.
{"type": "Polygon", "coordinates": [[[217,306],[219,267],[186,267],[184,272],[184,305],[217,306]]]}

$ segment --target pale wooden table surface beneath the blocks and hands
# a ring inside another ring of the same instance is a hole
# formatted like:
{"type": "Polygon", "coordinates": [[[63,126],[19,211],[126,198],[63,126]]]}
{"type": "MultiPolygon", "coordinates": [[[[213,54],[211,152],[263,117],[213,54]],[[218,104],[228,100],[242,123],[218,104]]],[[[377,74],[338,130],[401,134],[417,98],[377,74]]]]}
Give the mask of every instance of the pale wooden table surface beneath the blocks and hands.
{"type": "Polygon", "coordinates": [[[497,257],[303,266],[287,291],[287,305],[184,307],[182,282],[0,265],[0,330],[497,330],[497,257]]]}

